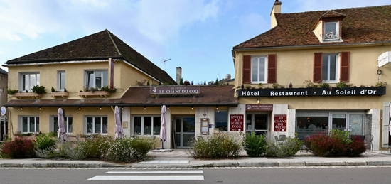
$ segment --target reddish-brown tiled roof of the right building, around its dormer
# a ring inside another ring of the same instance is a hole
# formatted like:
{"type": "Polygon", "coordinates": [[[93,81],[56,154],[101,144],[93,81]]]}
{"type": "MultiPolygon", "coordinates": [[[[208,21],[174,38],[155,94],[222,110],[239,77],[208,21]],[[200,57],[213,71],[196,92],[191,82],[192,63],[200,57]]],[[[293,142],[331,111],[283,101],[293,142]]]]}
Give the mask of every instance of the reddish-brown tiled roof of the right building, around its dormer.
{"type": "Polygon", "coordinates": [[[268,48],[282,46],[333,45],[391,42],[391,5],[333,10],[346,16],[342,21],[342,39],[338,43],[321,43],[312,32],[321,16],[336,16],[328,11],[277,13],[278,25],[234,47],[268,48]],[[326,13],[326,14],[325,14],[326,13]]]}

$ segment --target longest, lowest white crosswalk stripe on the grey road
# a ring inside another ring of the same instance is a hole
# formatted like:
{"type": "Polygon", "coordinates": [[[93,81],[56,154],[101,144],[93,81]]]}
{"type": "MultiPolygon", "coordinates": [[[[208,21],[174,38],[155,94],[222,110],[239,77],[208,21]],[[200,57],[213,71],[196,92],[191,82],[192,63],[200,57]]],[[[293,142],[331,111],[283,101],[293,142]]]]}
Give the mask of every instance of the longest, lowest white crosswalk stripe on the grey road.
{"type": "Polygon", "coordinates": [[[203,180],[203,175],[97,175],[88,180],[203,180]]]}

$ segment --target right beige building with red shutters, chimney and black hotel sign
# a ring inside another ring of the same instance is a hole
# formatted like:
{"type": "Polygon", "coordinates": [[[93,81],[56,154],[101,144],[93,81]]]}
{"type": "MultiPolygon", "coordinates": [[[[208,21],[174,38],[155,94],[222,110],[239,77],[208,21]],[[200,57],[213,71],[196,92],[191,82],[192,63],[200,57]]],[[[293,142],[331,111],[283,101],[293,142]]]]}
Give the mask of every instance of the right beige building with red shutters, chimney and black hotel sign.
{"type": "Polygon", "coordinates": [[[391,6],[303,13],[281,6],[275,1],[269,31],[232,50],[245,131],[303,139],[340,129],[387,148],[391,69],[377,59],[391,50],[391,6]]]}

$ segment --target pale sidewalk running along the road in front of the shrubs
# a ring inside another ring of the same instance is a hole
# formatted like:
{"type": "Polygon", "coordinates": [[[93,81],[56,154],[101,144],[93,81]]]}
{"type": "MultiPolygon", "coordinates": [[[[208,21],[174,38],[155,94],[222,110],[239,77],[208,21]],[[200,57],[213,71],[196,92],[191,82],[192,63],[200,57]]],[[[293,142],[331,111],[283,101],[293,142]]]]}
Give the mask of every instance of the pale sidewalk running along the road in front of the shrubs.
{"type": "Polygon", "coordinates": [[[300,153],[292,158],[249,158],[200,160],[191,157],[188,150],[150,152],[148,161],[117,164],[105,161],[70,161],[31,159],[0,159],[0,168],[208,168],[208,167],[279,167],[279,166],[391,166],[390,152],[364,153],[356,158],[328,158],[300,153]]]}

